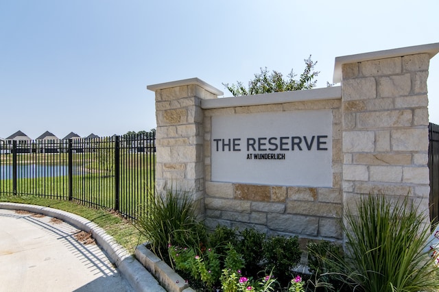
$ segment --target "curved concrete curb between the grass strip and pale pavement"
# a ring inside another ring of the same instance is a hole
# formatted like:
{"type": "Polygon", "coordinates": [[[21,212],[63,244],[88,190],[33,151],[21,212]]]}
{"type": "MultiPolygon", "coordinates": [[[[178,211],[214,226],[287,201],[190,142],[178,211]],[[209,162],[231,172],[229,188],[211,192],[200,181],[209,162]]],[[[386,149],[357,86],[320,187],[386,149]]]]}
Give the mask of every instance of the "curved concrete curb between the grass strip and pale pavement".
{"type": "Polygon", "coordinates": [[[29,204],[0,203],[0,209],[25,210],[55,217],[70,223],[80,230],[91,232],[97,244],[102,247],[102,250],[104,250],[112,262],[115,263],[123,277],[128,280],[135,291],[166,291],[134,256],[131,256],[128,251],[119,245],[112,236],[108,235],[105,230],[88,219],[62,210],[29,204]]]}

